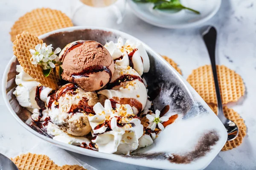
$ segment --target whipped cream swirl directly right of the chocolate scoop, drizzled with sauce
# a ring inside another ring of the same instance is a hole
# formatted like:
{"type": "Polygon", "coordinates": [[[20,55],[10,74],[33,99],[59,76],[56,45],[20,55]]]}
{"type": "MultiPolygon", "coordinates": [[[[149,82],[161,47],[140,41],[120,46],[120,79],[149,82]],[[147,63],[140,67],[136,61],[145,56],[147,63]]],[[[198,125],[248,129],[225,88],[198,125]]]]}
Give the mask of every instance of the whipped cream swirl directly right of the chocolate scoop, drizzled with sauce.
{"type": "Polygon", "coordinates": [[[105,48],[111,54],[116,65],[131,66],[141,76],[150,68],[149,57],[142,43],[119,37],[117,43],[107,42],[105,48]]]}

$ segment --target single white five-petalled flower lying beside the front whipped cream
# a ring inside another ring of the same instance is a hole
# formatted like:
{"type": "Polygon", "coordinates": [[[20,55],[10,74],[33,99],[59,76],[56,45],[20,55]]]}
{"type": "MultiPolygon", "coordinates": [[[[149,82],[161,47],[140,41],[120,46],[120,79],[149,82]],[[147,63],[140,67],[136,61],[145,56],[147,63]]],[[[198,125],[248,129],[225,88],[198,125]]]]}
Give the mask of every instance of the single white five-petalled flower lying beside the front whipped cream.
{"type": "Polygon", "coordinates": [[[160,111],[159,110],[156,110],[156,114],[154,114],[154,113],[147,114],[146,118],[149,120],[150,124],[153,123],[151,125],[151,130],[155,130],[157,125],[161,130],[164,130],[162,122],[166,122],[169,119],[169,117],[167,117],[167,116],[160,117],[160,111]]]}

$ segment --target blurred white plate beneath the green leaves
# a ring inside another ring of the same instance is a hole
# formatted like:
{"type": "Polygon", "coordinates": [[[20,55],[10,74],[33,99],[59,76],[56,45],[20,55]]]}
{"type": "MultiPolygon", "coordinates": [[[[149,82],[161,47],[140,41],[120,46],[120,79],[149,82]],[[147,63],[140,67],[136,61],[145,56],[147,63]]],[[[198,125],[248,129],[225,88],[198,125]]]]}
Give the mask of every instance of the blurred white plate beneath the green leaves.
{"type": "Polygon", "coordinates": [[[176,13],[153,10],[153,3],[135,3],[128,0],[134,14],[145,22],[163,28],[188,28],[199,26],[213,17],[221,6],[221,0],[182,0],[184,6],[200,11],[194,14],[188,10],[176,13]]]}

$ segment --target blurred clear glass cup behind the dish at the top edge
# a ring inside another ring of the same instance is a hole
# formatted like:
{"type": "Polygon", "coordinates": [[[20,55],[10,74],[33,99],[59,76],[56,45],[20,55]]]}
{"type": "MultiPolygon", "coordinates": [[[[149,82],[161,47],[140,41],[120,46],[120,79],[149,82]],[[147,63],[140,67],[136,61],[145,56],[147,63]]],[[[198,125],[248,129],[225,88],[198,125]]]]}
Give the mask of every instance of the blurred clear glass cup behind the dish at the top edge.
{"type": "Polygon", "coordinates": [[[72,0],[70,6],[75,26],[118,29],[125,16],[126,0],[72,0]]]}

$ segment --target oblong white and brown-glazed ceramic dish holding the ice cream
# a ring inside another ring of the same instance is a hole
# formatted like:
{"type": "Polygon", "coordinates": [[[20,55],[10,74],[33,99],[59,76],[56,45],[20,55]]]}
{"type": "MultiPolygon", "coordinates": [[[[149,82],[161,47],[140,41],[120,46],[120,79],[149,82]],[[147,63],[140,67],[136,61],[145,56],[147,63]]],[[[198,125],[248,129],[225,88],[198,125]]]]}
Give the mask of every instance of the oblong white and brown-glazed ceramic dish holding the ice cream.
{"type": "MultiPolygon", "coordinates": [[[[135,37],[107,28],[70,27],[39,36],[53,47],[64,46],[75,40],[95,40],[102,44],[135,37]]],[[[142,42],[143,43],[143,42],[142,42]]],[[[166,115],[177,113],[178,119],[166,127],[149,147],[137,150],[130,156],[100,153],[82,147],[53,140],[44,131],[31,124],[31,113],[20,107],[12,92],[15,90],[15,71],[18,65],[12,57],[3,75],[3,97],[9,111],[26,130],[58,147],[76,153],[103,159],[168,170],[204,169],[215,158],[227,140],[227,132],[221,121],[204,100],[159,54],[148,45],[145,49],[150,58],[150,71],[143,74],[153,99],[154,109],[162,110],[169,105],[166,115]]]]}

